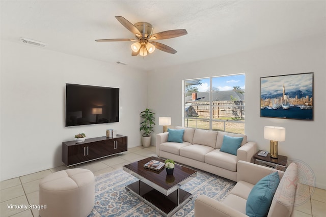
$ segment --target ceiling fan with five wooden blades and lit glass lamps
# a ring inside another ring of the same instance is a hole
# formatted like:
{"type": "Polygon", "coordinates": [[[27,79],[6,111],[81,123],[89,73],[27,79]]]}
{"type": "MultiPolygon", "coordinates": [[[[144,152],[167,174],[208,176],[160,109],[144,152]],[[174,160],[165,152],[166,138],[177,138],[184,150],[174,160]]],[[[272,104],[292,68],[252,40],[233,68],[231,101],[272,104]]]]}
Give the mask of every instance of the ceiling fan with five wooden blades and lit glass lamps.
{"type": "Polygon", "coordinates": [[[137,41],[131,45],[131,55],[137,56],[140,54],[141,56],[146,56],[147,53],[154,52],[155,48],[175,54],[177,51],[168,45],[161,44],[155,42],[153,40],[161,40],[161,39],[171,39],[180,37],[187,34],[185,29],[175,29],[175,30],[167,30],[160,33],[153,33],[153,26],[147,22],[137,22],[132,24],[124,17],[115,16],[117,20],[126,27],[131,33],[135,35],[135,39],[97,39],[97,42],[124,42],[124,41],[137,41]]]}

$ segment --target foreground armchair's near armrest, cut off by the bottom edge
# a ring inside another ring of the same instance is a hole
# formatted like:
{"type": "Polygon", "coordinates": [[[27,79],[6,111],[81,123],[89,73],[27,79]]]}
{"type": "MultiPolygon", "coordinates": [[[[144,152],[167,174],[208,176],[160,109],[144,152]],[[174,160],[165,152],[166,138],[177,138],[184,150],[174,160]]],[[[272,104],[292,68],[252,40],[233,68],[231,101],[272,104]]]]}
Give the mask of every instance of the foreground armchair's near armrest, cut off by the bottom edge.
{"type": "Polygon", "coordinates": [[[206,195],[200,195],[195,200],[195,217],[216,216],[216,217],[248,217],[217,200],[206,195]]]}

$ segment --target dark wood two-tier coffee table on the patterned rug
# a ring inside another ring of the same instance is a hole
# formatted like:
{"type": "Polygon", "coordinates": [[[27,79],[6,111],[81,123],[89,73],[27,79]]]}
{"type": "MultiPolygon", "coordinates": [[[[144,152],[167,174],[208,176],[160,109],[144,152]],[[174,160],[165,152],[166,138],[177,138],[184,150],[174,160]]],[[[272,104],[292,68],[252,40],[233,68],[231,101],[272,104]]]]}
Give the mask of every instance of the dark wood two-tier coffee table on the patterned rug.
{"type": "Polygon", "coordinates": [[[151,160],[164,162],[162,159],[150,157],[123,166],[124,171],[139,179],[127,185],[126,190],[160,214],[170,217],[193,198],[191,193],[179,188],[196,177],[197,171],[175,164],[173,175],[167,175],[165,168],[160,171],[144,168],[144,164],[151,160]]]}

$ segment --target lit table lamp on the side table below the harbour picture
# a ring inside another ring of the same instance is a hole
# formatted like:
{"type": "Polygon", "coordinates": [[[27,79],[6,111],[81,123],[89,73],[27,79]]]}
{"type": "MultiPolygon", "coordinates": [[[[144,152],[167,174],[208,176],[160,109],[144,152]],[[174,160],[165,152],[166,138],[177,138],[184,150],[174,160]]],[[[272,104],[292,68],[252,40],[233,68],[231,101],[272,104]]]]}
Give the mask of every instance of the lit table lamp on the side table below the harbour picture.
{"type": "Polygon", "coordinates": [[[264,139],[270,140],[270,157],[278,158],[278,142],[285,141],[285,128],[265,126],[264,139]]]}

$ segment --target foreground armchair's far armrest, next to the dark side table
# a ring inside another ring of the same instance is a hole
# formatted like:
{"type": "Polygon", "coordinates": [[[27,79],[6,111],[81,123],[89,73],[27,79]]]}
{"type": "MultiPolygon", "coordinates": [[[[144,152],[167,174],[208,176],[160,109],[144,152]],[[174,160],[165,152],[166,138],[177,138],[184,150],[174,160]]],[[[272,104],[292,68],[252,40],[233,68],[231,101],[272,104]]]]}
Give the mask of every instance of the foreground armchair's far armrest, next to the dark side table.
{"type": "Polygon", "coordinates": [[[281,179],[284,174],[284,172],[281,170],[276,170],[246,161],[238,161],[237,181],[245,181],[255,185],[260,179],[276,171],[279,173],[281,179]]]}

